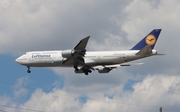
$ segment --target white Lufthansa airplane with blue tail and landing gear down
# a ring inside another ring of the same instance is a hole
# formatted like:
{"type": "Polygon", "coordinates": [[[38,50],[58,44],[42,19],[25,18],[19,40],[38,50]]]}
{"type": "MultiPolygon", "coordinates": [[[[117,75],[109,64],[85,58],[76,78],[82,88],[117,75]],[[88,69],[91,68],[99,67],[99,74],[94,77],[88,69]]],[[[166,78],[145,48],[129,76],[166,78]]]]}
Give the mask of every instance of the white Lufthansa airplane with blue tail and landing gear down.
{"type": "Polygon", "coordinates": [[[161,29],[152,30],[139,43],[130,50],[122,51],[86,51],[86,45],[90,36],[79,41],[68,50],[31,51],[18,57],[15,61],[26,66],[30,73],[30,67],[74,67],[75,73],[88,75],[92,70],[99,73],[109,73],[111,70],[130,66],[127,62],[138,60],[158,54],[154,46],[161,33],[161,29]]]}

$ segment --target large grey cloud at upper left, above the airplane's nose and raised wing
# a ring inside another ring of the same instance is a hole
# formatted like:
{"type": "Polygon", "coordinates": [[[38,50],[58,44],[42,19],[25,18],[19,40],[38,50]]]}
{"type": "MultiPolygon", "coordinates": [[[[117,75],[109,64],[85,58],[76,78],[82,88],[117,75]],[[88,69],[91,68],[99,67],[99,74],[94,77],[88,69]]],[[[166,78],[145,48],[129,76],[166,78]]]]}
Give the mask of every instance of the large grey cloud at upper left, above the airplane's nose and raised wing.
{"type": "Polygon", "coordinates": [[[0,52],[68,49],[88,35],[100,42],[103,33],[117,31],[112,18],[126,3],[3,0],[0,2],[0,48],[3,48],[0,52]]]}

